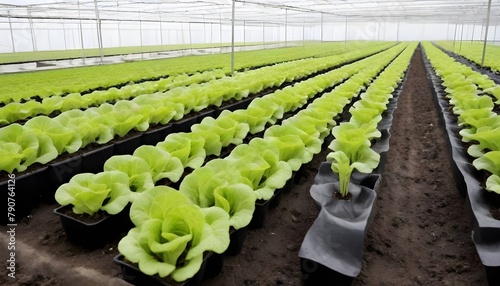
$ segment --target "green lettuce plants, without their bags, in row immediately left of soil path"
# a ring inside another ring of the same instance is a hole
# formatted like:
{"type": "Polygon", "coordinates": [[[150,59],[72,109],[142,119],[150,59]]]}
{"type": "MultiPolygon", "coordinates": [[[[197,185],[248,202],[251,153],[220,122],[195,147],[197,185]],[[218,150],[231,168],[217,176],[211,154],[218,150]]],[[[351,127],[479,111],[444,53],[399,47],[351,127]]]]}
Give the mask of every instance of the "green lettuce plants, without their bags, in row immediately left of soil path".
{"type": "Polygon", "coordinates": [[[361,94],[361,99],[349,109],[349,121],[332,129],[334,139],[328,146],[332,152],[328,154],[327,161],[339,177],[339,192],[343,197],[349,193],[354,169],[369,174],[380,163],[380,154],[371,148],[372,142],[382,136],[378,123],[395,88],[404,78],[416,46],[417,43],[410,44],[361,94]]]}

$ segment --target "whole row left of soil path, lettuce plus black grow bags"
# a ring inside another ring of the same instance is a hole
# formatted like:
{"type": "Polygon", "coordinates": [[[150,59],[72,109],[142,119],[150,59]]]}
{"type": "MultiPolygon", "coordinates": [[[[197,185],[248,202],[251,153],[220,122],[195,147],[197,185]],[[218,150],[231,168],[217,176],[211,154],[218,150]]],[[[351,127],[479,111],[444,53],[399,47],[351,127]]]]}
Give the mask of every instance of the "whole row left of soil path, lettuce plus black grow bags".
{"type": "Polygon", "coordinates": [[[380,158],[389,149],[397,100],[393,96],[401,90],[396,88],[415,48],[416,43],[410,44],[349,109],[350,119],[331,131],[333,141],[328,147],[332,152],[310,190],[320,212],[299,251],[306,285],[333,280],[350,285],[361,270],[364,239],[384,163],[380,158]]]}

